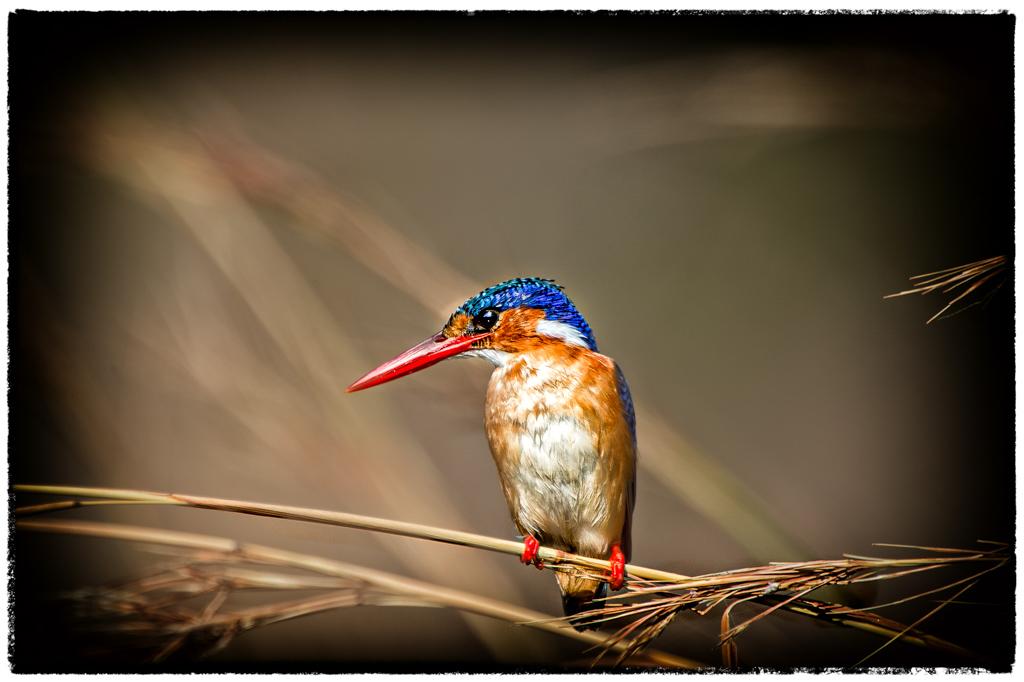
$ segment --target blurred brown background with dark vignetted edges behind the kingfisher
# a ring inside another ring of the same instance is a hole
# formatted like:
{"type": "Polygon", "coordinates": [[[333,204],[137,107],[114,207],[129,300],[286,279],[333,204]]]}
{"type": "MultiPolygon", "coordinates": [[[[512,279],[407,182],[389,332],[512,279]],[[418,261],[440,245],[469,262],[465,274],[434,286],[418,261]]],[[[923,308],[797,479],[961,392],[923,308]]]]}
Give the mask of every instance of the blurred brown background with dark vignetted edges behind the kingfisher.
{"type": "MultiPolygon", "coordinates": [[[[567,288],[631,382],[636,563],[694,574],[872,542],[1010,541],[1012,282],[927,327],[943,300],[882,297],[1012,254],[1013,22],[17,12],[12,481],[511,537],[481,424],[487,366],[344,387],[481,287],[531,274],[567,288]]],[[[550,574],[479,551],[177,509],[69,516],[558,611],[550,574]]],[[[91,665],[54,625],[54,596],[155,560],[99,540],[12,546],[26,672],[91,665]]],[[[1008,665],[1012,580],[927,629],[1008,665]]],[[[657,646],[716,662],[717,620],[680,619],[657,646]]],[[[777,614],[739,651],[842,666],[879,643],[777,614]]],[[[557,667],[583,648],[368,607],[246,634],[195,666],[557,667]]],[[[896,645],[874,663],[935,660],[896,645]]]]}

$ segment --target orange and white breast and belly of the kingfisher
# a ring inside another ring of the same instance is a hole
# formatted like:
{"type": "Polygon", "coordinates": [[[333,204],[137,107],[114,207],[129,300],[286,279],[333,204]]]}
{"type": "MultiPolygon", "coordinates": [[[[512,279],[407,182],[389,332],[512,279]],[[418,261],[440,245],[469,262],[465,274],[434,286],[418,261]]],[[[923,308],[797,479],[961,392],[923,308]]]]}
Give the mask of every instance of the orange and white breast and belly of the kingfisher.
{"type": "Polygon", "coordinates": [[[636,454],[611,358],[561,343],[515,353],[492,376],[485,411],[520,532],[601,558],[629,547],[636,454]]]}

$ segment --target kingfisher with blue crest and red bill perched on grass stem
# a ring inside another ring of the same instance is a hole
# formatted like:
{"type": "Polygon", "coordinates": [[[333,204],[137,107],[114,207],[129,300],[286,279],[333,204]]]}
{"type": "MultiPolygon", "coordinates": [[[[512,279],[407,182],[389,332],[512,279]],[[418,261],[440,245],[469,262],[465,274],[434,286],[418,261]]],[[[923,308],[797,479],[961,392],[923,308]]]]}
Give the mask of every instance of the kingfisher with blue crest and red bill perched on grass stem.
{"type": "MultiPolygon", "coordinates": [[[[484,428],[513,524],[520,560],[543,563],[541,546],[607,559],[595,580],[555,571],[565,615],[598,607],[623,588],[636,500],[636,418],[618,365],[598,351],[590,325],[553,280],[515,278],[484,289],[441,330],[348,386],[354,392],[450,357],[494,366],[484,428]]],[[[578,630],[594,629],[586,614],[578,630]]]]}

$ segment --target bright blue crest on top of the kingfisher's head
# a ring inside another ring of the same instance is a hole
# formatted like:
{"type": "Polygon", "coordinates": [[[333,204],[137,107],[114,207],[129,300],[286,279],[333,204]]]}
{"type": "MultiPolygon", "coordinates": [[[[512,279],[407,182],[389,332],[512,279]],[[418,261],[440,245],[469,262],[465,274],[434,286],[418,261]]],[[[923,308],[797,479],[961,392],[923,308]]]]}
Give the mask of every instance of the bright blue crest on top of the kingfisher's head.
{"type": "Polygon", "coordinates": [[[597,341],[590,325],[553,280],[543,278],[507,280],[468,299],[456,312],[464,312],[474,317],[488,308],[499,312],[513,308],[543,310],[545,319],[569,326],[586,341],[588,348],[597,351],[597,341]]]}

